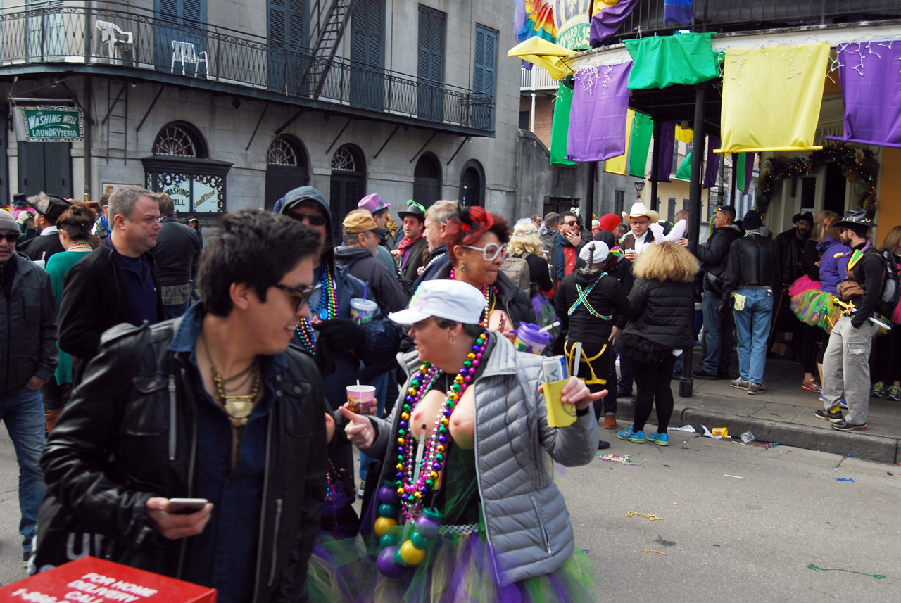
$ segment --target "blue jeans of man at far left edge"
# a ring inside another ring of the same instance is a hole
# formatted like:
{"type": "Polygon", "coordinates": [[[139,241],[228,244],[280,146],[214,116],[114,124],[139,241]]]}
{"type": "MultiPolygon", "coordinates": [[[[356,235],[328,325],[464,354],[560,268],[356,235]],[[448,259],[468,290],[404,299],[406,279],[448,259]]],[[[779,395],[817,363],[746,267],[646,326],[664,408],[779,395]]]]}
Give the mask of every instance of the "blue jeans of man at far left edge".
{"type": "Polygon", "coordinates": [[[44,451],[44,402],[41,390],[23,387],[12,396],[0,396],[0,412],[19,462],[19,534],[23,551],[32,550],[34,524],[44,498],[41,453],[44,451]]]}

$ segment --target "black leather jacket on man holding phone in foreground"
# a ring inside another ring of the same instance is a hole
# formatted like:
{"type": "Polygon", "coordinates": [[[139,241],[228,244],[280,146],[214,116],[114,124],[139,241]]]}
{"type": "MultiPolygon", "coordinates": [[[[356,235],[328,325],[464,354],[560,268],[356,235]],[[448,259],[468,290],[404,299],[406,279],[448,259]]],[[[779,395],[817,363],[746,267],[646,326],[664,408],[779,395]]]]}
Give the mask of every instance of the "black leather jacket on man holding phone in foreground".
{"type": "MultiPolygon", "coordinates": [[[[187,353],[167,349],[179,321],[104,334],[41,457],[47,494],[39,544],[77,520],[106,537],[106,559],[184,575],[190,539],[159,536],[146,511],[152,496],[196,495],[194,371],[187,353]]],[[[324,499],[322,383],[308,356],[295,348],[286,356],[272,383],[254,603],[307,600],[307,560],[324,499]]]]}

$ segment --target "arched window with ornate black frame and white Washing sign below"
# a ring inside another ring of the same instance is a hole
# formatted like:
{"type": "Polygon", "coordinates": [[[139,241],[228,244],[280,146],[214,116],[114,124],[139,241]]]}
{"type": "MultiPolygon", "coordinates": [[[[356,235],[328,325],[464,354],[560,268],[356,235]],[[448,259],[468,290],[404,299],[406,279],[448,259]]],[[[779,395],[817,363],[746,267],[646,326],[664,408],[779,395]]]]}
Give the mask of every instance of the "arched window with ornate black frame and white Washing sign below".
{"type": "Polygon", "coordinates": [[[187,121],[166,124],[153,140],[152,152],[141,159],[148,189],[167,193],[182,215],[225,211],[225,176],[232,164],[210,159],[194,126],[187,121]]]}

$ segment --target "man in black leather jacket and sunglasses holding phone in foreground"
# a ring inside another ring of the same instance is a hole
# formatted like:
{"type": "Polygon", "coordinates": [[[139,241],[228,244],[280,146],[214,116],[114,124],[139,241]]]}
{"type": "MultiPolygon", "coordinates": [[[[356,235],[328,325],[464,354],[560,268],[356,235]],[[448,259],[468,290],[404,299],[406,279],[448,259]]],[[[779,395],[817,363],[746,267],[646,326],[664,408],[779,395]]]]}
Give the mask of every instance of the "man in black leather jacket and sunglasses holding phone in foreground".
{"type": "Polygon", "coordinates": [[[41,459],[32,571],[92,554],[220,603],[308,599],[325,405],[314,361],[289,343],[319,246],[296,220],[229,213],[201,262],[202,303],[104,333],[41,459]],[[178,514],[174,498],[202,500],[178,514]]]}

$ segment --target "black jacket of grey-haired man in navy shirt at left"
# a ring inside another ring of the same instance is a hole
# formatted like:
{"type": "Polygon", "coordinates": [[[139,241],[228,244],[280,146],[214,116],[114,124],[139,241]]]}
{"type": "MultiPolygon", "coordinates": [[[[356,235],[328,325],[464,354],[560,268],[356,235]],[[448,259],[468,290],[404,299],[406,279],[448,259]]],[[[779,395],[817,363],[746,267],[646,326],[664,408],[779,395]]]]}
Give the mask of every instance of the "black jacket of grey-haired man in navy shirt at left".
{"type": "MultiPolygon", "coordinates": [[[[153,256],[145,253],[157,285],[157,321],[163,320],[163,302],[153,256]]],[[[97,355],[100,336],[125,322],[128,303],[123,275],[107,237],[87,257],[69,268],[59,302],[59,349],[72,356],[72,383],[77,384],[88,360],[97,355]]]]}

